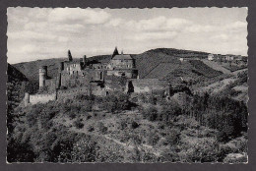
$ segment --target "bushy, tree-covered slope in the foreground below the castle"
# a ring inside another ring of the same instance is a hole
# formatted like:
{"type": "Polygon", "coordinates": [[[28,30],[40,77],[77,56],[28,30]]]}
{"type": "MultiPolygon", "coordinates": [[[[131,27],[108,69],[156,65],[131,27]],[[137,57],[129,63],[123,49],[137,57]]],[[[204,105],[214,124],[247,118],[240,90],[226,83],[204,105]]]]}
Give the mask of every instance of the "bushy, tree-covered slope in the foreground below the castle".
{"type": "Polygon", "coordinates": [[[125,94],[51,101],[15,110],[19,118],[8,145],[8,161],[51,162],[244,162],[228,159],[247,152],[247,107],[210,96],[175,100],[125,94]],[[127,114],[127,112],[130,114],[127,114]],[[123,144],[124,143],[124,144],[123,144]],[[19,150],[23,146],[23,150],[19,150]],[[152,146],[152,147],[147,147],[152,146]]]}

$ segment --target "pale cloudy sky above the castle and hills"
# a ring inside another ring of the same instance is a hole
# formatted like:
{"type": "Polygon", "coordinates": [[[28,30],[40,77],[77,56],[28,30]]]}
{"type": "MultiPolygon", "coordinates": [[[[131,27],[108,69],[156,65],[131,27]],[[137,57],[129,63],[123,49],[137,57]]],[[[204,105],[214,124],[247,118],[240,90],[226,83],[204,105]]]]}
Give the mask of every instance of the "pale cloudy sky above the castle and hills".
{"type": "Polygon", "coordinates": [[[126,54],[154,48],[247,55],[247,8],[7,10],[7,61],[126,54]]]}

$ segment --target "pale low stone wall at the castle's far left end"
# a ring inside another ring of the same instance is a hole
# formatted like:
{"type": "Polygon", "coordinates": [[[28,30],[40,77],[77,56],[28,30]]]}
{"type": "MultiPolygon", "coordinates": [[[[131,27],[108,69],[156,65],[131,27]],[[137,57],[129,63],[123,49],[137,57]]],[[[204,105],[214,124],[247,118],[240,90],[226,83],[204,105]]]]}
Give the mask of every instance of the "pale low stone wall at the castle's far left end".
{"type": "Polygon", "coordinates": [[[30,103],[36,104],[36,103],[46,103],[50,100],[56,99],[56,93],[51,94],[31,94],[30,95],[30,103]]]}

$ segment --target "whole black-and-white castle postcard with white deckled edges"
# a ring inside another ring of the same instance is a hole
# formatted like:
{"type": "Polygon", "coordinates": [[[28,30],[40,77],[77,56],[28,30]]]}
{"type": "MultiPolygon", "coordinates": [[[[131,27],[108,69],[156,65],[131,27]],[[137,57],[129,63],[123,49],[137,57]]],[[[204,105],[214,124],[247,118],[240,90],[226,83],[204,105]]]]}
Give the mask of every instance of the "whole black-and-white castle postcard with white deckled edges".
{"type": "Polygon", "coordinates": [[[7,163],[248,163],[246,7],[7,9],[7,163]]]}

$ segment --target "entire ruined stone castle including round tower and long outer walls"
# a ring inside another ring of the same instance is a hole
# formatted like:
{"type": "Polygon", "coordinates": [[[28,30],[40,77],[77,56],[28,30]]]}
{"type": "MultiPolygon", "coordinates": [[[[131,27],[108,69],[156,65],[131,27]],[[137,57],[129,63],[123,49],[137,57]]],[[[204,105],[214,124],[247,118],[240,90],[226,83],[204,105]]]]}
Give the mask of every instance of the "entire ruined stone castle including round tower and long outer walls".
{"type": "Polygon", "coordinates": [[[139,79],[135,59],[123,52],[119,54],[117,48],[107,63],[90,61],[86,55],[75,61],[68,51],[68,60],[59,63],[55,78],[48,77],[47,66],[39,68],[38,93],[26,93],[25,103],[44,103],[81,93],[106,96],[116,91],[151,93],[156,90],[164,91],[164,94],[168,95],[170,85],[158,79],[139,79]]]}

